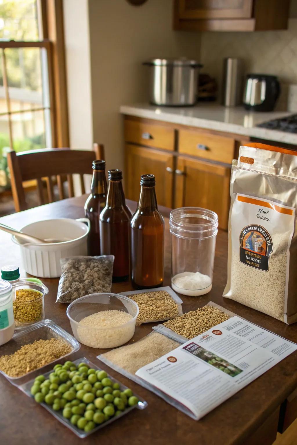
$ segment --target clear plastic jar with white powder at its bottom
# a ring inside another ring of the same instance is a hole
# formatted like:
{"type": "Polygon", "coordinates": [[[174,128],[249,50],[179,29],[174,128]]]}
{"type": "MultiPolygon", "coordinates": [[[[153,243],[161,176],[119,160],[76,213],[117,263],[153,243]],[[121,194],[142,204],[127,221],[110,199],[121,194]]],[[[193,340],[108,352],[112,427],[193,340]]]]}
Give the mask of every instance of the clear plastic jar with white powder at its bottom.
{"type": "Polygon", "coordinates": [[[183,295],[204,295],[212,289],[218,215],[201,207],[172,210],[171,287],[183,295]]]}

